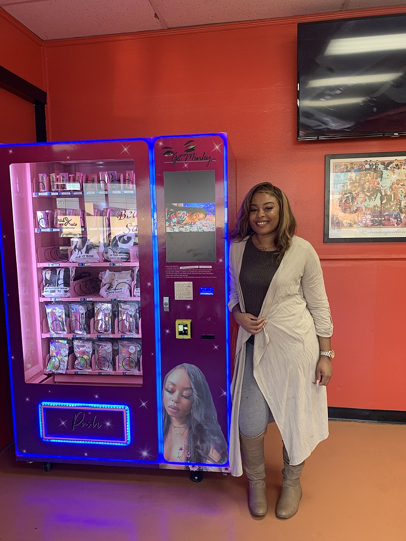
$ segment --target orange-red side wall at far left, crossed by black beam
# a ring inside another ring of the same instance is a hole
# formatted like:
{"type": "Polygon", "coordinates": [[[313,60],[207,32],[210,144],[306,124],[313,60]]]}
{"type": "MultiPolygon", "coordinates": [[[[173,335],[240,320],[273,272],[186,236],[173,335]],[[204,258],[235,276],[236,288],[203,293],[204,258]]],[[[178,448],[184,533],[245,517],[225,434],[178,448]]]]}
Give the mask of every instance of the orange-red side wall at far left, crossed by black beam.
{"type": "MultiPolygon", "coordinates": [[[[44,89],[41,40],[0,9],[0,65],[44,89]]],[[[0,142],[36,140],[34,105],[0,88],[0,142]]],[[[11,204],[11,202],[10,202],[11,204]]],[[[3,280],[0,280],[2,288],[3,280]]],[[[0,294],[0,450],[13,439],[4,303],[0,294]]]]}

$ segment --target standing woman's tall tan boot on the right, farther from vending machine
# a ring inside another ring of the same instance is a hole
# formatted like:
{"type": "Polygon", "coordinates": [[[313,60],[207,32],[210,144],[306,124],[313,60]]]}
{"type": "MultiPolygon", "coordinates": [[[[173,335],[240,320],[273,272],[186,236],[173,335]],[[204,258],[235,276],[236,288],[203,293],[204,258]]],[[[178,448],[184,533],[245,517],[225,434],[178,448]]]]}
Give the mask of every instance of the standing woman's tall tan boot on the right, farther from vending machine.
{"type": "Polygon", "coordinates": [[[291,518],[299,509],[300,498],[302,498],[302,486],[300,486],[300,474],[302,473],[304,461],[297,466],[289,464],[289,456],[283,444],[283,484],[280,493],[278,505],[276,506],[276,516],[278,518],[291,518]]]}

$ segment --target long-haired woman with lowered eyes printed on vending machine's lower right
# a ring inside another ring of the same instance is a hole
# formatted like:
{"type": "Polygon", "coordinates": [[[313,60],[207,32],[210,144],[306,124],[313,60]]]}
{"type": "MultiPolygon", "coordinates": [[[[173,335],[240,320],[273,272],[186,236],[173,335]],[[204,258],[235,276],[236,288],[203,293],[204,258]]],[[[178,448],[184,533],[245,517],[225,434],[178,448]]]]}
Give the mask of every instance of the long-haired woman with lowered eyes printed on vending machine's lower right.
{"type": "Polygon", "coordinates": [[[168,462],[224,464],[227,444],[204,374],[175,366],[163,380],[163,456],[168,462]]]}

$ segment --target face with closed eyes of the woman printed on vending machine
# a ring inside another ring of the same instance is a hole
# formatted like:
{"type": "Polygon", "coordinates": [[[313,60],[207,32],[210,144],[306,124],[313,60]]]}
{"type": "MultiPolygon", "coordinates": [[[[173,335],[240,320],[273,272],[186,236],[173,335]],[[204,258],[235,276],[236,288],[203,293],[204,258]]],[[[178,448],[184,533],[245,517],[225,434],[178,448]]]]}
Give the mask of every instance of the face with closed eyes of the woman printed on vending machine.
{"type": "Polygon", "coordinates": [[[185,424],[192,410],[193,390],[185,370],[178,368],[168,375],[163,390],[163,407],[173,423],[185,424]]]}

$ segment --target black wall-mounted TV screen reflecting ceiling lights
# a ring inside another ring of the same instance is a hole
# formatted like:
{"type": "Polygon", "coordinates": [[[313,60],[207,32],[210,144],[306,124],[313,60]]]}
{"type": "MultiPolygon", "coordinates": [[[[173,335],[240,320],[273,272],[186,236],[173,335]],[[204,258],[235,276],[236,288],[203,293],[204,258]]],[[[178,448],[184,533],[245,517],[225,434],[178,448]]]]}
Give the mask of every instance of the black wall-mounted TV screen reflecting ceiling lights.
{"type": "Polygon", "coordinates": [[[298,140],[406,134],[406,14],[298,24],[298,140]]]}

